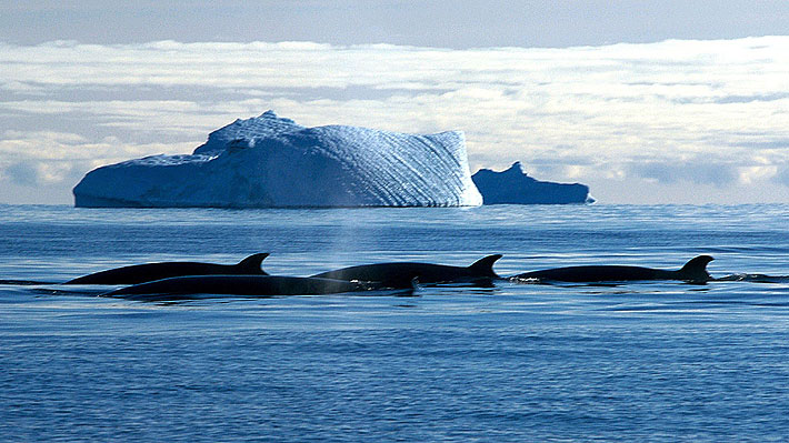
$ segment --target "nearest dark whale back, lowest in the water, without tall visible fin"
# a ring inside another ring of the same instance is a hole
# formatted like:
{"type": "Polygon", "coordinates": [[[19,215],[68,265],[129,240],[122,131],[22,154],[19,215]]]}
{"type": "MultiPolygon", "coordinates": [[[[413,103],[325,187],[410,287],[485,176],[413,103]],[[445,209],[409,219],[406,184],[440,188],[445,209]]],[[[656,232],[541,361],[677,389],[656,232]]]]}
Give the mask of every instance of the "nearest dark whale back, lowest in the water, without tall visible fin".
{"type": "Polygon", "coordinates": [[[132,300],[204,299],[221,295],[320,295],[373,291],[380,284],[282,275],[187,275],[139,283],[100,296],[132,300]]]}

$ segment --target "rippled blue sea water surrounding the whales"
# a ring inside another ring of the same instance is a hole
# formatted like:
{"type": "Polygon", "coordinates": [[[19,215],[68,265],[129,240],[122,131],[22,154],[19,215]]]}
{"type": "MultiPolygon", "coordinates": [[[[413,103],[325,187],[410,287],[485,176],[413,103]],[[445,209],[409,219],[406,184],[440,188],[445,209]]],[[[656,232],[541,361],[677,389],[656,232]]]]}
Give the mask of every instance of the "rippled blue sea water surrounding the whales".
{"type": "Polygon", "coordinates": [[[2,441],[786,441],[789,205],[87,210],[0,205],[2,441]],[[567,264],[771,283],[497,283],[146,303],[119,265],[567,264]],[[18,284],[23,281],[38,284],[18,284]]]}

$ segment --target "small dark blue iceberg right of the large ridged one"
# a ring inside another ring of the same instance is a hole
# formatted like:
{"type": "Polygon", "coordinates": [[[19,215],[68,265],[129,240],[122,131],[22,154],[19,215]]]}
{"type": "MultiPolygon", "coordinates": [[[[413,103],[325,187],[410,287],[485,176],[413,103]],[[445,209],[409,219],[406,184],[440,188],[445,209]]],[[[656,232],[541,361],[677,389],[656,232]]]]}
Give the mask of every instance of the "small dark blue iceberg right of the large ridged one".
{"type": "Polygon", "coordinates": [[[539,181],[523,172],[520,162],[501,172],[480,169],[471,177],[482,194],[483,204],[566,204],[593,203],[589,187],[580,183],[539,181]]]}

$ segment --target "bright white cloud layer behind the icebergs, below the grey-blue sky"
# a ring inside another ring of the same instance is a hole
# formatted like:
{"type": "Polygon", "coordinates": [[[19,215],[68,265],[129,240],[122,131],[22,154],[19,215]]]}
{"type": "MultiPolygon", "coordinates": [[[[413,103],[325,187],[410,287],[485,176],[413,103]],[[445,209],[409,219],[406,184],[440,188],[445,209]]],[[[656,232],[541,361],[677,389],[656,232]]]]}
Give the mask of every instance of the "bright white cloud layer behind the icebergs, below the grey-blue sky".
{"type": "MultiPolygon", "coordinates": [[[[0,180],[70,188],[97,164],[190,152],[274,109],[307,125],[461,129],[473,168],[520,160],[537,178],[590,184],[602,202],[789,202],[787,73],[789,37],[473,50],[0,44],[0,180]]],[[[0,191],[2,201],[14,200],[0,191]]]]}

